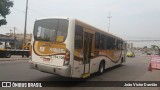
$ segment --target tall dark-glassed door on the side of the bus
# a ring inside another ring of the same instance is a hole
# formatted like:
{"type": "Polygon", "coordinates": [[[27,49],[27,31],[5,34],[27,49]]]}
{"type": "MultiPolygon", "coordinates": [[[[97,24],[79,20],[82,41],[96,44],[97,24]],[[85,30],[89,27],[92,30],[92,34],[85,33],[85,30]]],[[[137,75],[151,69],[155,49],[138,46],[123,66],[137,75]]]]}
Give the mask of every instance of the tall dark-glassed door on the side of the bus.
{"type": "Polygon", "coordinates": [[[90,59],[91,59],[92,38],[93,38],[93,35],[91,33],[84,32],[84,39],[83,39],[84,73],[83,73],[83,78],[90,76],[90,59]]]}

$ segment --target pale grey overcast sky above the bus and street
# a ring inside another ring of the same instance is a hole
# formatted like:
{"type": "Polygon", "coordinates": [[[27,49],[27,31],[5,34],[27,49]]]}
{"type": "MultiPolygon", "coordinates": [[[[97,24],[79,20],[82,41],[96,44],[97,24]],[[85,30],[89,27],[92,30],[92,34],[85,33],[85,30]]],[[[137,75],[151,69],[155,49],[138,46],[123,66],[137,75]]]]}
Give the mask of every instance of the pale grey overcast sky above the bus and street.
{"type": "MultiPolygon", "coordinates": [[[[24,33],[26,0],[12,0],[14,6],[0,33],[24,33]]],[[[67,16],[80,19],[126,40],[160,39],[160,0],[29,0],[27,33],[43,17],[67,16]]]]}

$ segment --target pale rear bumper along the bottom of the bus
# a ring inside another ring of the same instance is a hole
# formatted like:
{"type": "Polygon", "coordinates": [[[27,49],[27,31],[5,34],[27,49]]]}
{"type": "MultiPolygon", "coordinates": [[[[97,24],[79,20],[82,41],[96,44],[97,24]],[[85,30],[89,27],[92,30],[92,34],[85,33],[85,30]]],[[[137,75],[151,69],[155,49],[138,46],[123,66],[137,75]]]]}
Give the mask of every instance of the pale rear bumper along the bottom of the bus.
{"type": "Polygon", "coordinates": [[[30,62],[30,68],[40,70],[42,72],[57,74],[65,77],[71,76],[71,67],[68,66],[52,66],[41,63],[30,62]]]}

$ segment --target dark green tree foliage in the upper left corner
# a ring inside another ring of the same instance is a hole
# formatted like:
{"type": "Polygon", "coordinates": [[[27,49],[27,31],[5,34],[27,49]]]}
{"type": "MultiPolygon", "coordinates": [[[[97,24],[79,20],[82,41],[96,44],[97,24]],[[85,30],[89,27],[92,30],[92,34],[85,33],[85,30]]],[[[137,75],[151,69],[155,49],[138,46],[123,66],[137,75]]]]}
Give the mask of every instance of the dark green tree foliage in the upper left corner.
{"type": "Polygon", "coordinates": [[[10,8],[13,7],[13,1],[0,0],[0,26],[6,25],[6,15],[10,14],[10,8]]]}

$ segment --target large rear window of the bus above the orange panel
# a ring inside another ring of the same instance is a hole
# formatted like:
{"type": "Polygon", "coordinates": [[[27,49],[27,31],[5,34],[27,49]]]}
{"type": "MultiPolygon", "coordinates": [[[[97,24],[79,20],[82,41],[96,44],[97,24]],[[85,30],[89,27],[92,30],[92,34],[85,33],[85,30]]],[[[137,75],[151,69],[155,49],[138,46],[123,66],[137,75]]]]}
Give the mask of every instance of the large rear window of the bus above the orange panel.
{"type": "Polygon", "coordinates": [[[34,39],[55,42],[57,36],[63,36],[63,41],[65,41],[68,33],[68,22],[66,19],[37,20],[34,26],[34,39]]]}

